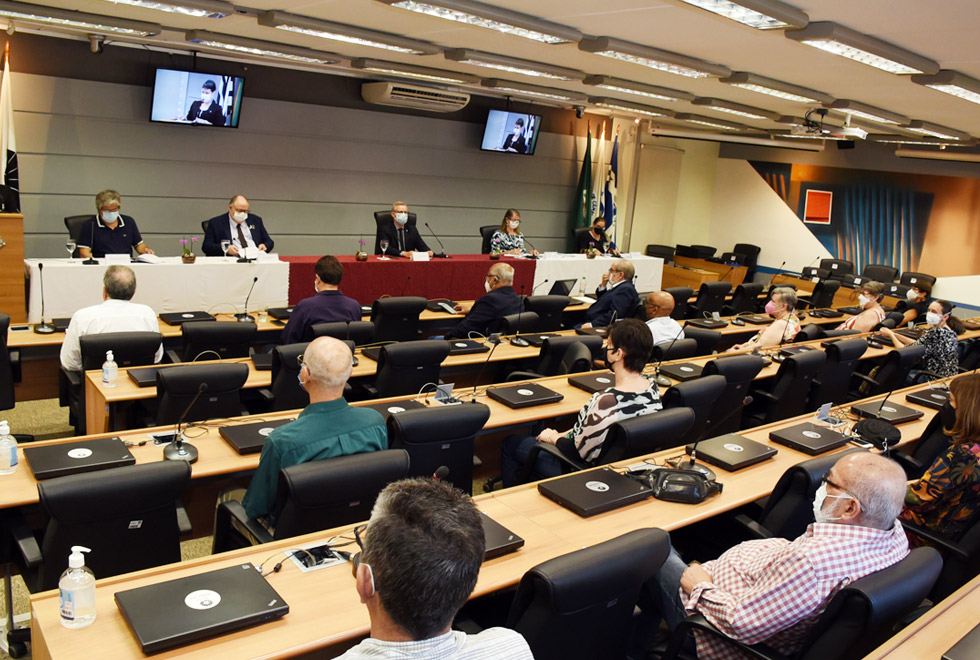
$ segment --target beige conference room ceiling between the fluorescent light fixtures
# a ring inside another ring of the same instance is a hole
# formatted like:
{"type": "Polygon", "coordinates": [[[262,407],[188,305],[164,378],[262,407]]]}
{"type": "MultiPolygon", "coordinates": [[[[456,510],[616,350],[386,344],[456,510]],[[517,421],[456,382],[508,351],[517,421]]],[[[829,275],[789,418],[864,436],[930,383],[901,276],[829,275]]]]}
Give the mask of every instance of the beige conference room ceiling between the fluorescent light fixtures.
{"type": "MultiPolygon", "coordinates": [[[[185,52],[198,50],[219,54],[185,39],[186,30],[207,30],[237,37],[310,48],[339,55],[332,66],[306,66],[296,63],[225,53],[228,59],[251,60],[271,66],[340,72],[370,77],[350,67],[352,58],[371,58],[463,72],[481,78],[513,80],[586,94],[613,97],[632,103],[652,105],[677,113],[735,121],[763,130],[786,130],[785,124],[771,119],[748,119],[724,114],[690,101],[663,101],[611,92],[580,81],[561,81],[519,73],[483,68],[447,59],[441,53],[413,55],[375,47],[342,43],[308,34],[287,32],[260,25],[256,14],[275,10],[316,19],[360,26],[429,42],[439,49],[466,48],[497,55],[547,63],[681,90],[697,97],[709,97],[760,108],[776,115],[801,117],[813,104],[784,100],[719,82],[716,77],[688,78],[638,64],[585,52],[576,43],[543,44],[494,30],[422,15],[392,7],[378,0],[248,0],[236,13],[224,18],[195,18],[174,13],[117,4],[109,0],[41,0],[38,4],[158,23],[164,27],[146,38],[109,36],[113,42],[156,44],[161,48],[185,52]]],[[[913,120],[956,129],[980,136],[980,106],[969,101],[915,84],[907,75],[887,73],[853,62],[787,38],[783,30],[756,30],[735,21],[693,7],[681,0],[492,0],[496,7],[531,14],[541,19],[575,28],[588,36],[619,40],[673,51],[723,65],[733,72],[750,72],[785,83],[824,92],[835,99],[850,99],[898,113],[913,120]]],[[[980,6],[976,0],[809,0],[789,2],[805,12],[810,22],[833,21],[858,32],[889,42],[917,55],[934,60],[940,69],[957,71],[980,79],[980,6]]],[[[0,19],[2,22],[2,19],[0,19]]],[[[13,20],[15,27],[41,33],[61,28],[38,27],[13,20]]],[[[70,30],[68,30],[70,32],[70,30]]],[[[84,33],[78,33],[82,36],[84,33]]],[[[376,78],[377,79],[377,78],[376,78]]],[[[405,82],[413,82],[405,80],[405,82]]],[[[414,81],[418,82],[418,81],[414,81]]],[[[424,84],[424,83],[421,83],[424,84]]],[[[475,86],[456,89],[470,93],[499,95],[475,86]]],[[[517,98],[517,95],[514,95],[517,98]]],[[[526,97],[525,97],[526,98],[526,97]]],[[[573,103],[565,103],[571,106],[573,103]]],[[[579,104],[580,105],[580,104],[579,104]]],[[[588,104],[584,104],[588,105],[588,104]]],[[[605,111],[608,112],[608,111],[605,111]]],[[[616,111],[629,115],[628,112],[616,111]]],[[[659,121],[659,120],[658,120],[659,121]]],[[[665,124],[672,122],[666,121],[665,124]]],[[[675,123],[676,125],[676,123],[675,123]]],[[[872,133],[881,132],[871,130],[872,133]]],[[[889,132],[914,135],[903,130],[889,132]]]]}

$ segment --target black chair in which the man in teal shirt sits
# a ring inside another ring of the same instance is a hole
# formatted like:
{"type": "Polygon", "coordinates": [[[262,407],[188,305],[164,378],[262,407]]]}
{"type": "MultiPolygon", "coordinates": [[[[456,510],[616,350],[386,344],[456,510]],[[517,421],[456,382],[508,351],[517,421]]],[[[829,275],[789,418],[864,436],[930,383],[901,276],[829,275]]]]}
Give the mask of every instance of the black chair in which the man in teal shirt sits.
{"type": "Polygon", "coordinates": [[[409,465],[408,452],[386,449],[283,468],[274,505],[275,533],[249,518],[241,502],[222,502],[215,511],[211,552],[247,547],[252,539],[269,543],[367,520],[378,494],[407,477],[409,465]],[[240,529],[248,530],[252,539],[240,529]]]}

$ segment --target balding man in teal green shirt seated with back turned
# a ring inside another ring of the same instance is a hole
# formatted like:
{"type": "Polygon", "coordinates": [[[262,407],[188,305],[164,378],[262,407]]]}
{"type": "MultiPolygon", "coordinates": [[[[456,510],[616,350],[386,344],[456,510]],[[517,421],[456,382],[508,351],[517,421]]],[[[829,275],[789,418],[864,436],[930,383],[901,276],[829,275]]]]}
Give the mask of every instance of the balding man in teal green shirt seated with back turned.
{"type": "Polygon", "coordinates": [[[333,337],[318,337],[302,356],[299,382],[310,395],[310,405],[296,421],[269,434],[259,467],[242,499],[249,518],[275,524],[279,470],[325,458],[388,448],[384,417],[369,408],[352,408],[344,399],[353,356],[347,344],[333,337]]]}

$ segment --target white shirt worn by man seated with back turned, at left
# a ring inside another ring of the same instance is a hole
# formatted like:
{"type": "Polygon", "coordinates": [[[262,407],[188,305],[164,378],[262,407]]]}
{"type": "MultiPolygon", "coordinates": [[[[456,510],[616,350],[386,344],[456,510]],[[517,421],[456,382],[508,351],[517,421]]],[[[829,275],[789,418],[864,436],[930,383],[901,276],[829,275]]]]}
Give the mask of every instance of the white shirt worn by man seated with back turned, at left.
{"type": "MultiPolygon", "coordinates": [[[[61,345],[61,366],[68,371],[82,370],[82,348],[79,340],[85,335],[104,332],[160,332],[157,315],[146,305],[128,300],[104,301],[101,305],[83,307],[71,317],[61,345]]],[[[157,349],[154,362],[163,358],[163,344],[157,349]]]]}

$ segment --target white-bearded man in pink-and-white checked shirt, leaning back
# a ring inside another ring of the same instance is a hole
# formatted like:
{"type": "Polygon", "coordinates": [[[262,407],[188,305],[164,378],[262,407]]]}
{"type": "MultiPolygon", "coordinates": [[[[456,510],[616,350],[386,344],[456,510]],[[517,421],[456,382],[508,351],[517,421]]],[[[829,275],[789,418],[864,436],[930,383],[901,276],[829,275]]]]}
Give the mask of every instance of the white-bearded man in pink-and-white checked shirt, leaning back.
{"type": "MultiPolygon", "coordinates": [[[[905,490],[894,461],[848,454],[824,477],[816,522],[802,536],[746,541],[703,565],[687,566],[672,551],[641,607],[648,614],[655,608],[672,630],[700,612],[734,640],[792,655],[838,589],[908,554],[897,520],[905,490]]],[[[697,651],[702,660],[744,657],[707,635],[697,636],[697,651]]]]}

